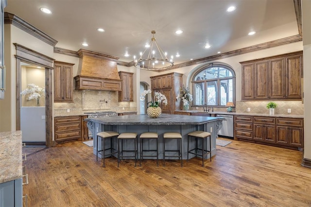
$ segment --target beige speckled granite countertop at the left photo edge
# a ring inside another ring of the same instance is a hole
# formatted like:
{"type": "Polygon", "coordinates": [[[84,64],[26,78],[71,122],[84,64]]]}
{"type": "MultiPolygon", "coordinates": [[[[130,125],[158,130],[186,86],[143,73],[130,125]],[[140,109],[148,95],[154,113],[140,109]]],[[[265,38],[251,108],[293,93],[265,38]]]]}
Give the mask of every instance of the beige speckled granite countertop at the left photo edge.
{"type": "Polygon", "coordinates": [[[0,132],[0,183],[22,176],[21,131],[0,132]]]}

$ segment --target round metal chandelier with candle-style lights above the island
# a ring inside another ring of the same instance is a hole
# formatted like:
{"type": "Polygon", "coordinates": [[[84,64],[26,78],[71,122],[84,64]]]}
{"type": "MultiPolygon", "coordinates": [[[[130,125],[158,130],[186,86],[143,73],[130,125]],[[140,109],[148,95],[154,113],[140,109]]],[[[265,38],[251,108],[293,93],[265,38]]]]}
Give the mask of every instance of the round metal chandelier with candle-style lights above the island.
{"type": "Polygon", "coordinates": [[[144,52],[140,52],[137,60],[134,56],[134,66],[145,70],[164,70],[174,65],[173,57],[171,60],[167,58],[167,53],[155,42],[155,31],[151,31],[152,38],[149,45],[146,45],[144,52]]]}

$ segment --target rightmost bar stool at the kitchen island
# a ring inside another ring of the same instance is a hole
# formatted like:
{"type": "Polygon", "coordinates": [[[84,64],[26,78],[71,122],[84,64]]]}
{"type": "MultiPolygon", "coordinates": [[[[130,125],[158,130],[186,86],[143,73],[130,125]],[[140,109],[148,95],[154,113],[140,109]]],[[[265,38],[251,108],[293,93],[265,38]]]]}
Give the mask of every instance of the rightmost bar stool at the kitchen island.
{"type": "Polygon", "coordinates": [[[187,160],[189,160],[189,154],[197,156],[202,156],[202,167],[204,167],[204,156],[207,156],[210,154],[210,161],[212,160],[211,155],[211,142],[210,142],[210,133],[206,131],[193,131],[188,134],[188,155],[187,160]],[[191,137],[195,138],[195,148],[189,150],[189,140],[191,137]],[[207,149],[204,149],[205,147],[205,139],[209,138],[209,151],[207,149]],[[198,146],[198,139],[202,139],[202,146],[199,148],[198,146]],[[201,152],[198,152],[198,150],[201,152]],[[194,151],[194,152],[193,152],[194,151]]]}

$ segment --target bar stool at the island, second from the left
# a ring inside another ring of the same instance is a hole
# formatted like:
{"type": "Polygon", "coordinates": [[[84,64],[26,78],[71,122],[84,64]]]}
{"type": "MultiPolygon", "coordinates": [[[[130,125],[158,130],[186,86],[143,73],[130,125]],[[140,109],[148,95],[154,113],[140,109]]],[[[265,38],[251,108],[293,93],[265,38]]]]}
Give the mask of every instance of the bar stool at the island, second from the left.
{"type": "Polygon", "coordinates": [[[134,158],[135,159],[135,167],[136,167],[136,160],[138,159],[138,142],[137,142],[137,133],[135,132],[125,132],[121,133],[118,136],[118,167],[120,163],[120,158],[134,158]],[[120,140],[122,144],[122,148],[120,151],[120,140]],[[123,150],[123,140],[134,140],[134,150],[123,150]],[[134,156],[123,156],[123,152],[133,152],[134,156]],[[120,156],[121,155],[121,156],[120,156]]]}

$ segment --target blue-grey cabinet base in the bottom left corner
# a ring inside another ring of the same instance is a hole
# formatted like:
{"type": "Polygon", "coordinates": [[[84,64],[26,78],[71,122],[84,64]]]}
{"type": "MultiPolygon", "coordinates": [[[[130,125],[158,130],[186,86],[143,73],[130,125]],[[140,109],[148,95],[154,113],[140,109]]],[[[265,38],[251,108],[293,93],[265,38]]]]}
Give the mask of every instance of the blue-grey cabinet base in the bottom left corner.
{"type": "Polygon", "coordinates": [[[22,207],[22,178],[0,183],[0,207],[22,207]]]}

